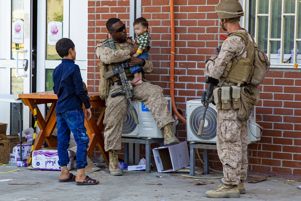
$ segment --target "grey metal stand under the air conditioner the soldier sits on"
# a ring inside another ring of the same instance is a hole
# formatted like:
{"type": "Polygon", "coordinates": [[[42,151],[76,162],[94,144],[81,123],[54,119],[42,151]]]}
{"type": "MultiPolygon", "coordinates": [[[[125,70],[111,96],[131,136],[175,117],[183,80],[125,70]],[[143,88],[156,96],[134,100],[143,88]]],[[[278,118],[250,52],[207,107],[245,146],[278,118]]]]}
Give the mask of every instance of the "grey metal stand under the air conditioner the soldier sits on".
{"type": "Polygon", "coordinates": [[[145,160],[146,160],[146,172],[151,172],[151,144],[160,143],[163,146],[164,138],[136,138],[136,137],[122,137],[121,142],[124,143],[124,163],[128,165],[129,162],[129,143],[145,144],[145,160]]]}

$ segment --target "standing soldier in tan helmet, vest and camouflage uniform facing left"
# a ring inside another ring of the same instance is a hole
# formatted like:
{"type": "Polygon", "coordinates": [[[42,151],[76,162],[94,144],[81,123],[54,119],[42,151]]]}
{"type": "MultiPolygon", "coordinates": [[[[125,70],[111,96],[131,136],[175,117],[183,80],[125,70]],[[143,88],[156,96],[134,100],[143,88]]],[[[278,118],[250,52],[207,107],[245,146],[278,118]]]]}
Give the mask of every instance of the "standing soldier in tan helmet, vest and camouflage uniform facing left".
{"type": "Polygon", "coordinates": [[[237,198],[240,194],[245,193],[244,184],[241,181],[247,178],[248,168],[247,121],[240,121],[237,114],[240,100],[244,102],[240,99],[241,86],[245,86],[246,82],[250,81],[241,80],[250,79],[252,73],[246,73],[245,76],[238,73],[237,77],[232,76],[231,79],[227,75],[232,68],[240,70],[247,66],[254,69],[254,51],[252,52],[254,43],[252,36],[239,25],[240,16],[244,16],[243,8],[239,2],[225,0],[219,3],[216,13],[219,16],[222,29],[228,33],[228,39],[224,41],[218,57],[212,56],[206,61],[205,73],[208,77],[221,79],[219,84],[221,87],[216,88],[214,97],[215,102],[219,102],[217,105],[220,105],[219,108],[217,107],[216,145],[219,159],[223,164],[224,178],[222,179],[223,184],[219,185],[217,189],[207,191],[206,196],[237,198]],[[240,61],[237,62],[235,59],[240,59],[240,61]],[[222,91],[216,93],[218,90],[222,91]],[[237,97],[234,97],[235,91],[237,97]],[[237,101],[239,101],[238,105],[237,101]]]}

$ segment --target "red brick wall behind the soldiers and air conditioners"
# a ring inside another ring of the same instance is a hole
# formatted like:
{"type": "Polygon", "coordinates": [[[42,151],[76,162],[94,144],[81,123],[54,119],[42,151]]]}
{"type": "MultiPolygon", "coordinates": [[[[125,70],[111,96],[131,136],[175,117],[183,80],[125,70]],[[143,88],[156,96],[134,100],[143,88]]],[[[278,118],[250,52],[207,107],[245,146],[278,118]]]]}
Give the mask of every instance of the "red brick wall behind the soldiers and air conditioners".
{"type": "MultiPolygon", "coordinates": [[[[175,0],[175,102],[186,115],[186,101],[200,98],[206,89],[204,61],[216,54],[219,0],[175,0]]],[[[88,1],[88,90],[98,91],[100,81],[94,46],[106,39],[105,23],[118,17],[129,26],[129,0],[88,1]]],[[[150,56],[154,70],[147,79],[169,95],[170,20],[168,0],[142,0],[142,17],[149,22],[150,56]]],[[[129,30],[127,30],[129,33],[129,30]]],[[[226,34],[224,34],[226,35],[226,34]]],[[[258,161],[265,171],[301,174],[301,73],[270,71],[260,86],[256,107],[259,124],[265,128],[259,143],[258,161]],[[299,94],[294,94],[299,93],[299,94]],[[298,109],[296,109],[298,108],[298,109]],[[299,138],[299,139],[298,139],[299,138]]],[[[186,140],[186,125],[178,124],[177,137],[186,140]]],[[[250,170],[262,172],[256,161],[257,144],[250,145],[250,170]]],[[[123,150],[121,150],[122,152],[123,150]]],[[[200,150],[202,151],[202,150],[200,150]]],[[[141,153],[144,151],[141,149],[141,153]]],[[[97,155],[98,153],[96,153],[97,155]]],[[[202,156],[202,154],[201,154],[202,156]]],[[[222,168],[216,151],[209,154],[210,166],[222,168]]],[[[201,165],[196,161],[196,165],[201,165]]]]}

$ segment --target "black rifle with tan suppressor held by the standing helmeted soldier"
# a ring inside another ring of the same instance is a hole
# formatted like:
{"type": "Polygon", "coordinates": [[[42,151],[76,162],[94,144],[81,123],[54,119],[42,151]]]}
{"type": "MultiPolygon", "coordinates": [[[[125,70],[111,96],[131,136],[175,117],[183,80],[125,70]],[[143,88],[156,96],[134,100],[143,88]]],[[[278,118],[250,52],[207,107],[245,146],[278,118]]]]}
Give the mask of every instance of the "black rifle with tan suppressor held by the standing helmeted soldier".
{"type": "Polygon", "coordinates": [[[219,83],[219,80],[215,79],[215,78],[212,78],[212,77],[207,77],[206,78],[206,83],[209,84],[209,85],[208,85],[207,91],[205,91],[203,93],[203,96],[202,96],[202,99],[201,99],[203,105],[205,106],[205,110],[204,110],[204,113],[203,113],[203,117],[201,118],[201,121],[200,121],[199,130],[197,131],[198,136],[202,136],[203,129],[204,129],[204,124],[205,124],[206,111],[209,107],[209,103],[212,102],[212,104],[215,105],[215,102],[213,100],[211,100],[211,96],[213,94],[213,89],[214,89],[215,86],[217,86],[217,84],[219,83]]]}

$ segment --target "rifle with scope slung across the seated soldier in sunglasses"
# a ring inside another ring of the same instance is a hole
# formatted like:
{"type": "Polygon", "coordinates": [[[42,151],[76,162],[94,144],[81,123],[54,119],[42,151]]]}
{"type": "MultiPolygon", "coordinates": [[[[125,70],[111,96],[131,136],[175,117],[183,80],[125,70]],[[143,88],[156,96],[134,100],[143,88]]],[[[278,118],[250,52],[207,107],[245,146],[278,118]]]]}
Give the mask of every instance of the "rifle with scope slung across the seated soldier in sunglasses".
{"type": "Polygon", "coordinates": [[[120,96],[120,95],[126,95],[126,98],[129,101],[129,106],[131,108],[131,112],[135,121],[135,124],[139,124],[138,121],[138,116],[136,114],[136,110],[134,108],[134,106],[132,105],[132,101],[131,98],[133,97],[133,93],[131,91],[132,89],[132,83],[131,81],[128,81],[126,79],[126,73],[124,72],[124,68],[129,68],[129,62],[128,61],[123,61],[123,62],[119,62],[119,63],[115,63],[114,64],[114,68],[113,68],[113,73],[114,74],[119,74],[122,86],[123,86],[123,90],[121,90],[120,92],[117,93],[113,93],[111,94],[111,97],[114,98],[116,96],[120,96]]]}

